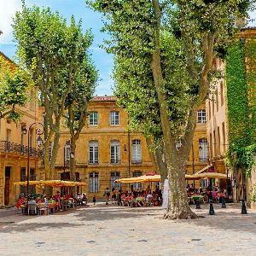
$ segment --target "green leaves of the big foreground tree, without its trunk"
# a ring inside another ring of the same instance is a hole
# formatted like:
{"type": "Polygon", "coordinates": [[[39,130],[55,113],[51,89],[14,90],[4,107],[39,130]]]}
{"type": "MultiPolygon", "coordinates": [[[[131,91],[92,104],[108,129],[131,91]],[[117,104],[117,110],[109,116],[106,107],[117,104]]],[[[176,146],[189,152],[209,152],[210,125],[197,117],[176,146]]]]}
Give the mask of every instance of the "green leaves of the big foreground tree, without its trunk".
{"type": "MultiPolygon", "coordinates": [[[[162,136],[159,99],[150,66],[156,48],[157,19],[153,2],[145,0],[86,1],[108,20],[103,31],[111,41],[106,49],[114,55],[113,78],[119,104],[129,113],[130,126],[146,136],[162,136]]],[[[166,93],[172,137],[182,137],[188,124],[189,109],[199,106],[201,70],[205,65],[202,38],[215,34],[212,53],[226,49],[235,32],[234,21],[247,9],[248,1],[159,1],[162,11],[160,58],[163,74],[161,90],[166,93]]],[[[209,80],[216,75],[209,72],[209,80]]],[[[208,91],[207,91],[208,92],[208,91]]],[[[206,92],[206,94],[207,94],[206,92]]]]}

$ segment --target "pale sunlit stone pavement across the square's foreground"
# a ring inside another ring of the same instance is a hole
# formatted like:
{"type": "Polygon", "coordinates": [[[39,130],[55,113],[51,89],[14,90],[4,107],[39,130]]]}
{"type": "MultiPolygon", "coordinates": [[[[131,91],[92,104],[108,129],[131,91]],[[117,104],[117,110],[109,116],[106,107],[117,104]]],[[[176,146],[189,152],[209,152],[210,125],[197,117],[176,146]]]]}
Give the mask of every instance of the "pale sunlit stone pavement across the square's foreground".
{"type": "Polygon", "coordinates": [[[0,210],[0,255],[256,255],[256,212],[208,207],[195,210],[206,218],[176,221],[160,207],[102,203],[47,216],[0,210]]]}

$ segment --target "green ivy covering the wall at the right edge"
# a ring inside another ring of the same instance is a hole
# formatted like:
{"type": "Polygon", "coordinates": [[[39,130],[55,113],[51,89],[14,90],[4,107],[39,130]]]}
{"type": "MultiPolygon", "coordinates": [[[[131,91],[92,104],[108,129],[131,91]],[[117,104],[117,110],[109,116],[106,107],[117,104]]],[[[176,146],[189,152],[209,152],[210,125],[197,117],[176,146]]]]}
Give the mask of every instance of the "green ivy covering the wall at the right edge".
{"type": "Polygon", "coordinates": [[[256,41],[236,42],[226,59],[229,151],[226,162],[251,175],[256,154],[256,41]],[[245,69],[247,61],[247,70],[245,69]]]}

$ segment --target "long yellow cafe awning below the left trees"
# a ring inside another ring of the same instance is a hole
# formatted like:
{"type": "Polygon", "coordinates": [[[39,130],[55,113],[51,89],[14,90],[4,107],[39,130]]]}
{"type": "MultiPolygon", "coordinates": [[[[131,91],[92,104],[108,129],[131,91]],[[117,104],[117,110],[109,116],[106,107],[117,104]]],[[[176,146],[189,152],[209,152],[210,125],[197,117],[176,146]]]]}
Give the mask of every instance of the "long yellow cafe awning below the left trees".
{"type": "MultiPolygon", "coordinates": [[[[16,182],[15,185],[26,186],[27,182],[16,182]]],[[[49,187],[75,187],[86,186],[87,183],[64,181],[64,180],[32,180],[29,181],[29,185],[42,185],[49,187]]]]}

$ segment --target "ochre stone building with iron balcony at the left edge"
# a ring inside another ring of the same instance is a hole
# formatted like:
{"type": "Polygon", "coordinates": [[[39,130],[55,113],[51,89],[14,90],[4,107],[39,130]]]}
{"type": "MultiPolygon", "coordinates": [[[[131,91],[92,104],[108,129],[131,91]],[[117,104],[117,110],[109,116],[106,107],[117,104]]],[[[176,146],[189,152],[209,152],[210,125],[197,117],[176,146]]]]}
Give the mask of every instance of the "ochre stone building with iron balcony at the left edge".
{"type": "MultiPolygon", "coordinates": [[[[0,56],[14,65],[9,58],[0,52],[0,56]]],[[[34,94],[28,91],[32,99],[34,94]]],[[[3,118],[0,119],[0,206],[10,205],[15,202],[15,195],[25,192],[19,187],[15,188],[14,183],[26,180],[27,168],[27,137],[24,128],[28,129],[32,123],[38,121],[38,102],[32,100],[27,102],[25,107],[16,107],[15,110],[21,114],[20,122],[3,118]]],[[[32,126],[30,132],[31,157],[30,157],[30,179],[37,179],[38,173],[38,149],[36,149],[35,129],[32,126]]],[[[31,192],[34,188],[31,187],[31,192]]]]}

